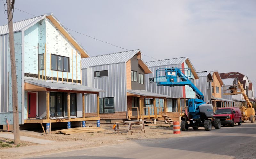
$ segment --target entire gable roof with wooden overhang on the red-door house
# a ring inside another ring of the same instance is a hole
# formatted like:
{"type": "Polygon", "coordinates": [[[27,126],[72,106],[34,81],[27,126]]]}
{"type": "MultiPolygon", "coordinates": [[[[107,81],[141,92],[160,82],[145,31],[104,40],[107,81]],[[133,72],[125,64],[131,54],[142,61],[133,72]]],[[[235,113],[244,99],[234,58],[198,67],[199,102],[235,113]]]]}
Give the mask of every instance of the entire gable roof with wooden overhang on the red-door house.
{"type": "MultiPolygon", "coordinates": [[[[75,38],[71,34],[68,33],[68,31],[64,28],[64,26],[62,26],[62,24],[58,21],[58,19],[54,17],[52,13],[47,13],[38,17],[15,22],[13,23],[13,32],[24,31],[44,18],[50,19],[50,22],[54,26],[56,26],[56,28],[58,28],[58,30],[68,39],[68,41],[72,45],[74,45],[74,47],[81,53],[82,58],[90,57],[89,54],[83,49],[83,47],[75,40],[75,38]]],[[[8,25],[0,26],[0,35],[8,34],[8,33],[9,33],[8,25]]]]}

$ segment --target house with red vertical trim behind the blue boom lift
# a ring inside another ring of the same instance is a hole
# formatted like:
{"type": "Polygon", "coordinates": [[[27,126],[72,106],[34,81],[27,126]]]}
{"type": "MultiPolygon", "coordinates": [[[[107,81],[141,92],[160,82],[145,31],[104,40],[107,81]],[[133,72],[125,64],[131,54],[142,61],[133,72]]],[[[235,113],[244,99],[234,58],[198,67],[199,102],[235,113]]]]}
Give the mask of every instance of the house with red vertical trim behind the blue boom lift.
{"type": "Polygon", "coordinates": [[[171,118],[182,116],[185,107],[188,105],[189,98],[196,98],[195,92],[189,86],[157,86],[156,70],[159,68],[177,67],[182,69],[186,76],[191,76],[191,81],[195,84],[195,80],[199,79],[195,68],[188,57],[172,58],[158,61],[146,62],[153,73],[145,76],[146,91],[168,95],[167,99],[167,115],[171,118]]]}

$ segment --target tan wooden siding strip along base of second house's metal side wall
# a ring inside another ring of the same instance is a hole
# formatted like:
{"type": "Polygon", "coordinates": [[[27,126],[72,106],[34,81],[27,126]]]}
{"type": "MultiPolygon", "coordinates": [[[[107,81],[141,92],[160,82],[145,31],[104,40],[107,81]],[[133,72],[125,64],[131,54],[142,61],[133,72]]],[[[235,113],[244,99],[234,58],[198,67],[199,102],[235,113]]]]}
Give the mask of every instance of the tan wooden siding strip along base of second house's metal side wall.
{"type": "MultiPolygon", "coordinates": [[[[85,113],[85,117],[97,117],[97,113],[85,113]]],[[[126,111],[100,114],[100,119],[127,119],[126,111]]]]}

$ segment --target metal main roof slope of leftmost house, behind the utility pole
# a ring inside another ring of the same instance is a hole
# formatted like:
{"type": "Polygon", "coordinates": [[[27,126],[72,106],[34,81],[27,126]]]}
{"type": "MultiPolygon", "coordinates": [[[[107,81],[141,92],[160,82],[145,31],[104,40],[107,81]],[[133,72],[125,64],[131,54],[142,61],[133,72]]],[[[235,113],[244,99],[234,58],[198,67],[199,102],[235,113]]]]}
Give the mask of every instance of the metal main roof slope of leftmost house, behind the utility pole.
{"type": "MultiPolygon", "coordinates": [[[[41,16],[38,16],[38,17],[34,17],[34,18],[14,22],[13,23],[13,32],[20,31],[20,30],[30,26],[31,24],[37,23],[38,21],[40,21],[44,18],[45,18],[45,15],[41,15],[41,16]]],[[[0,35],[8,34],[8,33],[9,33],[8,32],[8,25],[0,26],[0,35]]]]}

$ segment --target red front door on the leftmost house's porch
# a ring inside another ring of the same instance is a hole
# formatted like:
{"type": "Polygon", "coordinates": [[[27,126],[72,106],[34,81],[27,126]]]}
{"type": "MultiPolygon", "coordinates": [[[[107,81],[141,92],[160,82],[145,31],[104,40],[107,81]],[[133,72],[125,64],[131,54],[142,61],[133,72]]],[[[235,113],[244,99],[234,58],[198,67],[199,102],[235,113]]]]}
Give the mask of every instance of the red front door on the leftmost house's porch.
{"type": "Polygon", "coordinates": [[[28,92],[28,118],[36,118],[36,93],[28,92]]]}

